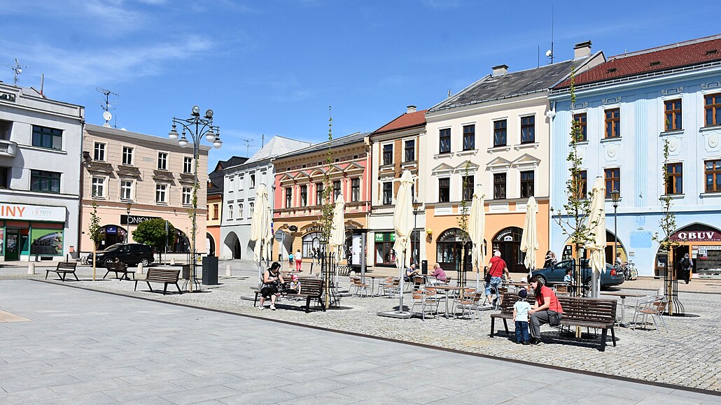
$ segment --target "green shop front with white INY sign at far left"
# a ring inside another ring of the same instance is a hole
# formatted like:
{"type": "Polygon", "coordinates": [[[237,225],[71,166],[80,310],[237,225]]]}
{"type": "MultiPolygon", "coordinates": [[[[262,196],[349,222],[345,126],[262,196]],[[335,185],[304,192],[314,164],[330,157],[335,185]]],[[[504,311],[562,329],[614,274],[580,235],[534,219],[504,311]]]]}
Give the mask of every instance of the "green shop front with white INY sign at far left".
{"type": "Polygon", "coordinates": [[[63,256],[66,208],[0,203],[0,257],[4,262],[63,256]]]}

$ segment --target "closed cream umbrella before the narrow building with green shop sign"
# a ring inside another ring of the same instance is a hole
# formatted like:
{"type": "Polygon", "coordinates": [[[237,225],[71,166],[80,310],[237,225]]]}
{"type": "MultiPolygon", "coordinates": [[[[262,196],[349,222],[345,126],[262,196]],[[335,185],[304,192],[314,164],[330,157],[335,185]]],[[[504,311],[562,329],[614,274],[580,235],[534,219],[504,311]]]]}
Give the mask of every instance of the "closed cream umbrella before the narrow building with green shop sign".
{"type": "Polygon", "coordinates": [[[401,185],[396,195],[396,210],[393,213],[393,228],[396,232],[396,241],[393,249],[396,251],[396,265],[400,269],[400,304],[398,310],[403,312],[403,269],[408,266],[410,256],[410,235],[413,231],[413,177],[408,170],[404,170],[400,179],[401,185]],[[399,253],[402,253],[399,255],[399,253]],[[398,260],[398,257],[402,259],[398,260]]]}

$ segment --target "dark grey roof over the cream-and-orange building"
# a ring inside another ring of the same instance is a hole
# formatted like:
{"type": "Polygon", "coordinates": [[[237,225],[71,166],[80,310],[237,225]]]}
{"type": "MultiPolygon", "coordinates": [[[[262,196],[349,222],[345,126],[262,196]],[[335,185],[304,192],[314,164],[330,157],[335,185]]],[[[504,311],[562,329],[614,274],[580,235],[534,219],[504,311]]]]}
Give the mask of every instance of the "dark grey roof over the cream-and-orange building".
{"type": "Polygon", "coordinates": [[[503,76],[488,75],[458,94],[436,104],[428,112],[543,92],[565,79],[571,73],[571,68],[578,68],[586,62],[588,62],[588,58],[582,58],[577,61],[562,61],[503,76]]]}

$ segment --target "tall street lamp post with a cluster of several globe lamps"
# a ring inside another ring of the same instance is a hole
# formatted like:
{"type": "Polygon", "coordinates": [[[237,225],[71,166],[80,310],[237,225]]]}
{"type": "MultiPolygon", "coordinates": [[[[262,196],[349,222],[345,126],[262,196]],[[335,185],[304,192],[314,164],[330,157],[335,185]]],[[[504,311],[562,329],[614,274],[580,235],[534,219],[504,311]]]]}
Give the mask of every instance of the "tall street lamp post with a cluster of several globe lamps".
{"type": "Polygon", "coordinates": [[[193,285],[195,284],[195,267],[198,264],[198,255],[195,246],[195,233],[198,233],[198,159],[200,159],[200,143],[205,140],[212,143],[215,148],[223,146],[221,141],[220,128],[213,125],[213,110],[205,111],[205,116],[200,117],[200,108],[195,105],[191,110],[190,118],[182,119],[173,117],[172,130],[168,133],[168,137],[172,140],[178,141],[178,144],[185,148],[188,146],[190,141],[185,137],[185,132],[190,134],[190,138],[193,141],[193,208],[190,212],[190,217],[193,220],[192,228],[192,239],[190,245],[190,252],[193,254],[193,258],[190,262],[190,275],[189,285],[190,292],[193,292],[193,285]],[[182,126],[182,133],[180,137],[175,130],[176,125],[182,126]]]}

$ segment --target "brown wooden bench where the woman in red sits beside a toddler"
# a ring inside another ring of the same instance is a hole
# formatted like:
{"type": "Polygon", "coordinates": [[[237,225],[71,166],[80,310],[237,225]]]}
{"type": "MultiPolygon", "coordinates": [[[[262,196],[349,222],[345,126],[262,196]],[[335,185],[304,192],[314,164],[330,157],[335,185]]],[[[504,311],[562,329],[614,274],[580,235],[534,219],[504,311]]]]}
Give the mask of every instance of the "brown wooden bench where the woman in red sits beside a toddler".
{"type": "MultiPolygon", "coordinates": [[[[558,302],[563,308],[561,325],[581,326],[601,331],[601,352],[606,350],[606,336],[611,329],[611,339],[616,346],[616,334],[614,323],[616,321],[616,301],[602,298],[582,298],[557,296],[558,302]]],[[[501,311],[491,314],[491,337],[495,334],[495,319],[503,319],[505,332],[508,334],[508,319],[513,319],[513,305],[518,301],[518,295],[505,293],[501,301],[501,311]]],[[[528,303],[533,305],[535,298],[526,298],[528,303]]]]}

